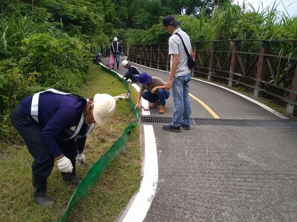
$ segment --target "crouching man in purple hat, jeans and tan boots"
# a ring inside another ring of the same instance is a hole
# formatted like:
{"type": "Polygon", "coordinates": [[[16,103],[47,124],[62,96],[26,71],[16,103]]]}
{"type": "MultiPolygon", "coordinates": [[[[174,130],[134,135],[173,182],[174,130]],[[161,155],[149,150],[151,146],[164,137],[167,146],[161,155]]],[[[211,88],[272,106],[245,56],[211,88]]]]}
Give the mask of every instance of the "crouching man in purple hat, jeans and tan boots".
{"type": "Polygon", "coordinates": [[[167,90],[166,82],[164,82],[159,77],[151,77],[147,73],[142,73],[138,77],[138,82],[142,84],[140,91],[138,92],[137,102],[135,109],[139,108],[139,102],[141,97],[148,102],[152,103],[149,108],[155,108],[160,106],[159,113],[163,114],[165,112],[165,103],[169,98],[169,91],[167,90]],[[144,92],[144,90],[148,90],[144,92]]]}

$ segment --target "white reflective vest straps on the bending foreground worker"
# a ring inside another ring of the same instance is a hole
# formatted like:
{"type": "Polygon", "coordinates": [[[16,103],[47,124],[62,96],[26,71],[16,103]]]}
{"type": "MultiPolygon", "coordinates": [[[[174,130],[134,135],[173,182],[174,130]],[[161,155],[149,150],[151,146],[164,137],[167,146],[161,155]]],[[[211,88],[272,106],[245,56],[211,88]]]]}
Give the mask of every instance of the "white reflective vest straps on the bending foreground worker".
{"type": "MultiPolygon", "coordinates": [[[[31,103],[31,116],[32,118],[39,123],[39,119],[38,119],[38,103],[39,103],[39,96],[40,94],[44,93],[44,92],[52,92],[52,93],[55,93],[55,94],[60,94],[60,95],[69,95],[69,96],[73,96],[73,97],[76,97],[76,98],[83,98],[81,96],[77,96],[77,95],[73,95],[71,93],[65,93],[65,92],[61,92],[61,91],[58,91],[56,89],[48,89],[48,90],[45,90],[45,91],[42,91],[42,92],[38,92],[38,93],[35,93],[33,95],[33,98],[32,98],[32,103],[31,103]]],[[[85,98],[83,98],[85,99],[85,98]]],[[[88,99],[85,99],[87,101],[87,103],[89,102],[88,99]]],[[[84,128],[87,128],[88,131],[86,133],[80,133],[80,130],[83,126],[83,124],[86,124],[84,123],[84,114],[82,113],[82,116],[79,120],[79,123],[78,125],[75,127],[75,130],[72,130],[72,129],[67,129],[65,130],[64,132],[69,135],[70,137],[69,138],[63,138],[64,140],[69,140],[69,139],[72,139],[72,138],[82,138],[82,137],[85,137],[87,135],[89,135],[92,130],[94,129],[95,127],[95,123],[92,123],[92,124],[88,124],[88,127],[84,127],[84,128]]]]}

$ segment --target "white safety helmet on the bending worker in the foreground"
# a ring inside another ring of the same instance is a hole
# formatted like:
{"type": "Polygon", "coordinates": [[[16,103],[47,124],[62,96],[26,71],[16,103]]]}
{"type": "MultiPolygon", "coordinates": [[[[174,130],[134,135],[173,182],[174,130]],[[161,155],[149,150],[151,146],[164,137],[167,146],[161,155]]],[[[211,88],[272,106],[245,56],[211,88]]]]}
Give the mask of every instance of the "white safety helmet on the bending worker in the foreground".
{"type": "Polygon", "coordinates": [[[108,117],[115,111],[115,99],[109,94],[99,94],[94,96],[93,116],[99,125],[103,125],[108,117]]]}

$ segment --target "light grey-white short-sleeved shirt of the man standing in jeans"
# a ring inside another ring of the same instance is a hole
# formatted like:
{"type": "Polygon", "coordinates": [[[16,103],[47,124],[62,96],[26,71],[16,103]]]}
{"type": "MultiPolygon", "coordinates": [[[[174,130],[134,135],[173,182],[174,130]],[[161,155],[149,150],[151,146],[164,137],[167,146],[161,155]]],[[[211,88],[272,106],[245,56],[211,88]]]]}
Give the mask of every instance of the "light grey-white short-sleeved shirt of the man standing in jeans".
{"type": "MultiPolygon", "coordinates": [[[[181,30],[181,28],[174,30],[172,36],[169,38],[169,55],[178,54],[177,70],[174,74],[175,77],[178,77],[189,74],[191,70],[188,67],[188,56],[184,49],[183,42],[178,35],[175,35],[175,33],[178,33],[183,38],[189,54],[191,54],[192,46],[190,37],[187,35],[187,33],[181,30]]],[[[172,67],[172,61],[172,56],[170,56],[170,68],[172,67]]]]}

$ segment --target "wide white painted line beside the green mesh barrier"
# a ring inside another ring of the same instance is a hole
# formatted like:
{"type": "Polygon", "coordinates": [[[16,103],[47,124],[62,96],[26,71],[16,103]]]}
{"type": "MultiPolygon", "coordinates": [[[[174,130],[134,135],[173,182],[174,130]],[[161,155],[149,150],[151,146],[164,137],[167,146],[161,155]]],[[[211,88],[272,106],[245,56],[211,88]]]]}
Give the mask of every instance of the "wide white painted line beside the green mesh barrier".
{"type": "MultiPolygon", "coordinates": [[[[102,63],[100,64],[104,66],[102,63]]],[[[115,71],[113,72],[118,74],[115,71]]],[[[118,75],[122,77],[121,74],[118,74],[118,75]]],[[[137,92],[139,92],[140,87],[137,84],[132,83],[131,85],[137,90],[137,92]]],[[[147,100],[142,98],[141,103],[145,108],[148,107],[147,100]]],[[[142,113],[143,115],[150,114],[149,111],[144,111],[144,109],[142,109],[142,113]]],[[[145,132],[144,133],[145,134],[144,135],[145,160],[143,165],[144,166],[143,179],[142,179],[139,191],[136,194],[133,202],[127,204],[127,206],[130,205],[130,207],[128,210],[126,209],[127,213],[124,219],[122,220],[122,222],[142,222],[143,220],[145,220],[146,215],[148,213],[149,206],[151,204],[151,201],[154,197],[154,194],[158,185],[157,146],[156,146],[152,125],[144,125],[144,132],[145,132]]]]}

